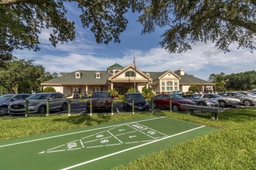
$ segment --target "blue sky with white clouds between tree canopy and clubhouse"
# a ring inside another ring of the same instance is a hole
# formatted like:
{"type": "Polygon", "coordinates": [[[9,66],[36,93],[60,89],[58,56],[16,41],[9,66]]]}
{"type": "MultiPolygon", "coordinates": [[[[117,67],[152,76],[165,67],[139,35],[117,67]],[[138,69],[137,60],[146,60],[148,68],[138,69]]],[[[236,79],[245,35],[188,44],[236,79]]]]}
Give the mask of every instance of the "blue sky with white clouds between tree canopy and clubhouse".
{"type": "Polygon", "coordinates": [[[120,43],[110,42],[96,44],[95,37],[81,26],[79,11],[72,6],[67,7],[68,17],[75,22],[76,39],[65,44],[57,44],[54,48],[49,42],[51,30],[40,35],[39,52],[16,50],[14,56],[19,59],[33,59],[34,64],[43,65],[50,73],[72,72],[76,70],[106,71],[108,67],[118,63],[126,67],[133,64],[135,54],[137,68],[141,71],[176,71],[184,69],[186,74],[208,80],[212,73],[241,73],[256,69],[256,54],[249,49],[237,49],[237,44],[230,46],[230,52],[215,48],[215,44],[198,42],[192,50],[181,54],[169,54],[158,42],[161,41],[163,29],[154,33],[141,35],[142,25],[136,22],[138,14],[129,13],[129,24],[121,34],[120,43]]]}

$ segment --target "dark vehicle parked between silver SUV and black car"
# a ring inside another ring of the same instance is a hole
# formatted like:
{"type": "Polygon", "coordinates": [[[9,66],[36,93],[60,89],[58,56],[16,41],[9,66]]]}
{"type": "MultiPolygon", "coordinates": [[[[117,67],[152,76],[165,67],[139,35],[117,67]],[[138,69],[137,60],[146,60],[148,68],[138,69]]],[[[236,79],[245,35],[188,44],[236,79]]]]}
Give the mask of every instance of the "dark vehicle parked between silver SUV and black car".
{"type": "Polygon", "coordinates": [[[90,112],[91,101],[93,102],[93,110],[106,110],[110,112],[112,109],[112,100],[108,92],[94,92],[91,100],[87,101],[86,112],[90,112]]]}

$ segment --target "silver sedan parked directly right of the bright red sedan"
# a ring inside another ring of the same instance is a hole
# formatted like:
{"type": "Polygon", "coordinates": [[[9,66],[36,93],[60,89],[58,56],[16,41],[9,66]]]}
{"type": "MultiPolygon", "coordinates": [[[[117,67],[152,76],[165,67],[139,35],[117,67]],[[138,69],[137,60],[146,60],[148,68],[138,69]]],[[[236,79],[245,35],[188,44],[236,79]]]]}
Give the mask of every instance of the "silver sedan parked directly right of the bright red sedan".
{"type": "Polygon", "coordinates": [[[212,99],[201,98],[199,95],[183,95],[184,99],[190,99],[196,103],[196,105],[219,107],[219,102],[212,99]]]}

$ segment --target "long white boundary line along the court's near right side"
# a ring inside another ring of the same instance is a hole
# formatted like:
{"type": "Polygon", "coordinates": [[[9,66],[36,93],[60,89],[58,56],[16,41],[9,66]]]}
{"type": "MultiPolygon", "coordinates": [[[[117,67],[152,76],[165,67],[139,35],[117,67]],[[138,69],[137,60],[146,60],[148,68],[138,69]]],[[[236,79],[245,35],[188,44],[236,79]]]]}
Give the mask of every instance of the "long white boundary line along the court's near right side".
{"type": "Polygon", "coordinates": [[[144,144],[140,144],[140,145],[138,145],[138,146],[134,146],[134,147],[132,147],[132,148],[127,148],[127,149],[125,149],[125,150],[120,150],[119,152],[114,152],[114,153],[112,153],[112,154],[108,154],[108,155],[105,155],[105,156],[101,156],[101,157],[95,158],[95,159],[93,159],[93,160],[84,161],[84,162],[82,162],[82,163],[78,163],[78,164],[72,165],[72,166],[70,166],[70,167],[65,167],[64,169],[61,169],[61,170],[66,170],[66,169],[72,169],[72,168],[74,168],[74,167],[79,167],[79,166],[81,166],[81,165],[85,165],[85,164],[91,163],[91,162],[93,162],[93,161],[101,160],[101,159],[103,159],[103,158],[107,158],[107,157],[109,157],[109,156],[113,156],[113,155],[116,155],[116,154],[120,154],[120,153],[126,152],[126,151],[128,151],[128,150],[133,150],[133,149],[135,149],[135,148],[139,148],[139,147],[145,146],[145,145],[147,145],[147,144],[156,143],[156,142],[158,142],[158,141],[162,141],[162,140],[167,139],[167,138],[170,138],[170,137],[175,137],[175,136],[177,136],[177,135],[181,135],[181,134],[187,133],[187,132],[189,132],[189,131],[194,131],[194,130],[200,129],[200,128],[202,128],[202,127],[205,127],[205,126],[200,126],[200,127],[194,128],[194,129],[187,130],[187,131],[182,131],[181,133],[177,133],[177,134],[175,134],[175,135],[171,135],[171,136],[168,136],[168,137],[164,137],[164,138],[159,139],[159,140],[157,140],[157,141],[152,141],[152,142],[149,142],[149,143],[144,143],[144,144]]]}

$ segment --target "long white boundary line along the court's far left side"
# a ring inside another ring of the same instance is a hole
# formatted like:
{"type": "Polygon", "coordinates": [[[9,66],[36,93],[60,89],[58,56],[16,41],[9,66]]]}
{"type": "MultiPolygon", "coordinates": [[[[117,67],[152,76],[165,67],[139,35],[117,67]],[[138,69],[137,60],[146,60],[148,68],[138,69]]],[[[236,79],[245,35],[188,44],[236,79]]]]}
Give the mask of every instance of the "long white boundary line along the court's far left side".
{"type": "MultiPolygon", "coordinates": [[[[166,116],[161,116],[161,117],[158,117],[158,118],[150,118],[150,119],[146,119],[146,120],[139,120],[137,122],[145,122],[145,121],[148,121],[148,120],[155,120],[155,119],[159,119],[159,118],[167,118],[167,117],[166,116]]],[[[137,122],[131,122],[131,123],[137,123],[137,122]]],[[[63,137],[63,136],[66,136],[66,135],[74,135],[74,134],[77,134],[77,133],[83,133],[83,132],[87,132],[87,131],[95,131],[95,130],[98,130],[98,129],[106,129],[108,127],[115,127],[115,126],[121,126],[121,125],[126,125],[126,124],[100,127],[100,128],[90,129],[90,130],[85,130],[85,131],[77,131],[77,132],[74,132],[74,133],[67,133],[67,134],[64,134],[64,135],[56,135],[56,136],[53,136],[53,137],[45,137],[45,138],[41,138],[41,139],[34,139],[34,140],[31,140],[31,141],[24,141],[24,142],[20,142],[20,143],[5,144],[5,145],[0,146],[0,148],[5,147],[5,146],[12,146],[12,145],[16,145],[16,144],[31,143],[31,142],[35,142],[35,141],[42,141],[42,140],[45,140],[45,139],[52,139],[52,138],[55,138],[55,137],[63,137]]]]}

